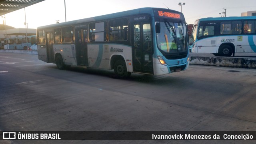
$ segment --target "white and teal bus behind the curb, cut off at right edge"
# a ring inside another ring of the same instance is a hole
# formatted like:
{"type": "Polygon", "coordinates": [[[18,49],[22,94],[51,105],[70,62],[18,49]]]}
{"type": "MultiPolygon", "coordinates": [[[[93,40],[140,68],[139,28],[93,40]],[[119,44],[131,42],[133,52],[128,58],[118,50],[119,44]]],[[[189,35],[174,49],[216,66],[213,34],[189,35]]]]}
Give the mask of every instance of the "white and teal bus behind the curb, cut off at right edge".
{"type": "Polygon", "coordinates": [[[195,21],[192,35],[195,53],[256,52],[256,16],[202,18],[195,21]]]}

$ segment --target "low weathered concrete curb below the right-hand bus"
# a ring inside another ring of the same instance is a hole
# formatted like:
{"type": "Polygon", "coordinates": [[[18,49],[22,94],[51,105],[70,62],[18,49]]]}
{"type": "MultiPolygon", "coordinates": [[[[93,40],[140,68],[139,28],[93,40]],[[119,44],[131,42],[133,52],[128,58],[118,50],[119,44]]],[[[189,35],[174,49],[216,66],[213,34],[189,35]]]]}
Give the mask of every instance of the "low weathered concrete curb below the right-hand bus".
{"type": "Polygon", "coordinates": [[[256,58],[191,56],[190,64],[256,69],[256,58]]]}

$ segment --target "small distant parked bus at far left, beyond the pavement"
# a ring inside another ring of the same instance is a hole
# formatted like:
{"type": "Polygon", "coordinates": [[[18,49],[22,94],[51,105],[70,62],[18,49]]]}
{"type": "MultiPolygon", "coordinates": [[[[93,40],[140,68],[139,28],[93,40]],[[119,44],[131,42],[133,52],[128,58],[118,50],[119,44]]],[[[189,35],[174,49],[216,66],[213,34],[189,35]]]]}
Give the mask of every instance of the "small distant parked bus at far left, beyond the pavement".
{"type": "Polygon", "coordinates": [[[4,49],[10,50],[27,50],[31,46],[30,38],[18,36],[4,40],[4,49]],[[28,42],[27,42],[28,39],[28,42]]]}

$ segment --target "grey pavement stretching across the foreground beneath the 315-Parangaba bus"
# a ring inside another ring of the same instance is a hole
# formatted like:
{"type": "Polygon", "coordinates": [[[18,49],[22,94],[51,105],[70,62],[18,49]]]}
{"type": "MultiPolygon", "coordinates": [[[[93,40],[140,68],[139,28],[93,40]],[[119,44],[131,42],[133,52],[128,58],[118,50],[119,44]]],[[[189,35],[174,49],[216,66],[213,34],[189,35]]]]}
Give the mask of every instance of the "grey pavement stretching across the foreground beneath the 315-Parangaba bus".
{"type": "MultiPolygon", "coordinates": [[[[116,79],[37,55],[0,52],[2,131],[256,131],[256,70],[188,70],[116,79]]],[[[255,140],[11,140],[14,144],[254,144],[255,140]]]]}

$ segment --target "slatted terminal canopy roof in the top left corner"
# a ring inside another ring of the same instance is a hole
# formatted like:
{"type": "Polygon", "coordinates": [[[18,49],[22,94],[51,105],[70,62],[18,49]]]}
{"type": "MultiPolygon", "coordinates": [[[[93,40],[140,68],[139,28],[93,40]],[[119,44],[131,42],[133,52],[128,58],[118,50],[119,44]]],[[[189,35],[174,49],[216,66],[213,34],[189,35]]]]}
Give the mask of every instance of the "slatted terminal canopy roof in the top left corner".
{"type": "Polygon", "coordinates": [[[0,16],[44,0],[0,0],[0,16]]]}

